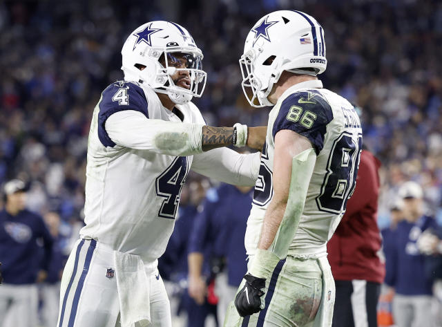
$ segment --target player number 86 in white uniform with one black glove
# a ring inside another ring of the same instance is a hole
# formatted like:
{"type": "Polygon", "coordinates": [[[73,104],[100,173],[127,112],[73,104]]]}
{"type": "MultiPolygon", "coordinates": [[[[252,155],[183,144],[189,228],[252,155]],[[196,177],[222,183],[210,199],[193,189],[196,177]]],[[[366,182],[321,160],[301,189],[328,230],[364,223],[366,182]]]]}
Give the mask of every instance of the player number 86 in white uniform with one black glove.
{"type": "Polygon", "coordinates": [[[352,104],[323,88],[323,28],[296,10],[262,17],[240,58],[252,106],[272,106],[245,246],[248,272],[224,326],[331,326],[326,244],[355,187],[362,131],[352,104]]]}

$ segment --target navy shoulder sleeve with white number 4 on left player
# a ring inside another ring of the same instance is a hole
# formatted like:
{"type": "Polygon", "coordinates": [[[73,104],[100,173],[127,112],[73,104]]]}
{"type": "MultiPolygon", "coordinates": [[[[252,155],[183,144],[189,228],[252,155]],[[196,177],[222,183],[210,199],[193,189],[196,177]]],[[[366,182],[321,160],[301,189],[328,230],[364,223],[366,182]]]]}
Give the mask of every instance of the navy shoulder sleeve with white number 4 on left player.
{"type": "Polygon", "coordinates": [[[133,82],[115,82],[102,93],[98,114],[98,138],[105,147],[115,147],[106,131],[106,120],[119,111],[139,111],[148,117],[147,100],[144,91],[133,82]]]}

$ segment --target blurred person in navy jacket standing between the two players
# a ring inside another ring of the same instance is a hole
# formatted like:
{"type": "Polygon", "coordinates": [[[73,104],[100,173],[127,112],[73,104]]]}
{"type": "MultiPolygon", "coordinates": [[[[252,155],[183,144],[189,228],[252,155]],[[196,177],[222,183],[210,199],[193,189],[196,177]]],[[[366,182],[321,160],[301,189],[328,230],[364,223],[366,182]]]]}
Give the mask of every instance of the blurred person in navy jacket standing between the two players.
{"type": "Polygon", "coordinates": [[[214,292],[220,324],[247,272],[244,234],[252,197],[252,187],[222,184],[209,190],[190,235],[189,295],[202,305],[214,292]],[[211,265],[211,276],[204,274],[204,263],[211,265]]]}

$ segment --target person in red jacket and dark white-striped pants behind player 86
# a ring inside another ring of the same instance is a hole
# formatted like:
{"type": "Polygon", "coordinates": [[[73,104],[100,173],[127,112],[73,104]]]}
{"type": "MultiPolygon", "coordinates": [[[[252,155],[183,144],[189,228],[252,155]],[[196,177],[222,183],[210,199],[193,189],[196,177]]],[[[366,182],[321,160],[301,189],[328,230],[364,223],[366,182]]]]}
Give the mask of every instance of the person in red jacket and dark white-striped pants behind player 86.
{"type": "Polygon", "coordinates": [[[328,259],[336,284],[333,327],[377,327],[376,306],[385,267],[378,252],[377,225],[381,162],[367,149],[361,153],[356,189],[332,239],[328,259]]]}

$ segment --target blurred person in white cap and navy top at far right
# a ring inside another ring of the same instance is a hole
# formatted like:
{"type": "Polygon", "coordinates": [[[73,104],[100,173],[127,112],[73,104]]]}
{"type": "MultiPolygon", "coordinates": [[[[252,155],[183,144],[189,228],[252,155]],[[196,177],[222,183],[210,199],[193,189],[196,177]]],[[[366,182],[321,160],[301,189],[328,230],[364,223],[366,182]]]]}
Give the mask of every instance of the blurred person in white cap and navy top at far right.
{"type": "Polygon", "coordinates": [[[432,326],[432,278],[425,271],[425,256],[416,241],[436,221],[423,214],[423,191],[415,182],[399,189],[403,199],[403,217],[392,239],[392,256],[385,283],[394,288],[393,317],[398,327],[432,326]]]}

